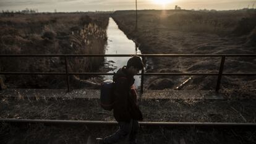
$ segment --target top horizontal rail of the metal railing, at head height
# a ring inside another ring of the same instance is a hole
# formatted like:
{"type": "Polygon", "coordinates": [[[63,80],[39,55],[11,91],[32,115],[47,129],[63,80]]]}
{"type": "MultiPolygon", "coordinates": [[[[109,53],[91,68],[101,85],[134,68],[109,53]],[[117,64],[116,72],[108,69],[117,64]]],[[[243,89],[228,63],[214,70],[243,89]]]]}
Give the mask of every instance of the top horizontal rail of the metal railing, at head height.
{"type": "Polygon", "coordinates": [[[256,57],[256,54],[0,54],[0,57],[256,57]]]}

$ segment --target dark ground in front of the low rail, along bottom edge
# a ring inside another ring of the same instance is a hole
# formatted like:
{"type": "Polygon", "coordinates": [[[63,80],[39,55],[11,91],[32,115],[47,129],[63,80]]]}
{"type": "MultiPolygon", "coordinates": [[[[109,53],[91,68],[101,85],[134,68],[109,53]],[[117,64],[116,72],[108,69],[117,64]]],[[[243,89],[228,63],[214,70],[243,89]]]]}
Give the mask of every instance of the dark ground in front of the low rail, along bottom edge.
{"type": "MultiPolygon", "coordinates": [[[[1,143],[70,143],[96,144],[96,137],[106,137],[117,130],[117,126],[80,125],[79,127],[56,127],[46,125],[23,126],[3,124],[0,129],[1,143]]],[[[175,127],[140,127],[137,135],[138,143],[197,143],[197,144],[253,144],[255,143],[254,130],[223,130],[223,129],[195,129],[175,127]]],[[[128,140],[117,144],[126,143],[128,140]]]]}

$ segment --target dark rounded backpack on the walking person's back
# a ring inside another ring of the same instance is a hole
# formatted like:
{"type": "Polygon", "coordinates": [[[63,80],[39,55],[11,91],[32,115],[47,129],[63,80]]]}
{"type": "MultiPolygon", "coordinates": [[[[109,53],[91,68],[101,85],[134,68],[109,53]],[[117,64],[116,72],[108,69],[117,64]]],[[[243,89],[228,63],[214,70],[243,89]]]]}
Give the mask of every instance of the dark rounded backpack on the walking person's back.
{"type": "MultiPolygon", "coordinates": [[[[126,77],[120,77],[126,78],[126,77]]],[[[111,111],[114,107],[114,82],[113,80],[105,80],[101,82],[100,87],[100,105],[101,108],[111,111]]]]}

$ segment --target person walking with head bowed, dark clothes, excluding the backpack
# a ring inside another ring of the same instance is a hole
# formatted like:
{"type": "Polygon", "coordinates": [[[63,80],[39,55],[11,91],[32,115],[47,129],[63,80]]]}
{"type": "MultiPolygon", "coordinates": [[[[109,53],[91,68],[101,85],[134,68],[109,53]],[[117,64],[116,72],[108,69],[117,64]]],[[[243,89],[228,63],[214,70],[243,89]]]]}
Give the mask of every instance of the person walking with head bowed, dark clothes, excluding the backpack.
{"type": "Polygon", "coordinates": [[[117,70],[114,81],[114,118],[119,129],[105,138],[96,138],[98,144],[113,144],[129,137],[129,143],[137,143],[139,122],[142,121],[142,112],[137,105],[137,94],[134,90],[134,75],[144,67],[139,56],[133,56],[127,61],[127,66],[117,70]]]}

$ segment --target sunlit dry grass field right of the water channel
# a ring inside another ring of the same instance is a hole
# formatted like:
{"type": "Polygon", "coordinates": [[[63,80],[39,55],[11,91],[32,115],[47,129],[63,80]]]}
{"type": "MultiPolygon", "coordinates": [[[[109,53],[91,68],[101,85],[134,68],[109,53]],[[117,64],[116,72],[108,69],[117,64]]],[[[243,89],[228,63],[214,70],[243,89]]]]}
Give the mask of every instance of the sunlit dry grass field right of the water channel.
{"type": "MultiPolygon", "coordinates": [[[[256,11],[116,11],[114,20],[143,54],[255,54],[256,11]]],[[[147,58],[147,72],[216,73],[221,58],[147,58]]],[[[252,57],[227,57],[224,72],[255,73],[252,57]]],[[[148,89],[175,88],[189,77],[146,77],[148,89]]],[[[215,90],[217,77],[195,76],[184,90],[215,90]]],[[[254,91],[255,77],[223,77],[221,90],[254,91]]]]}

